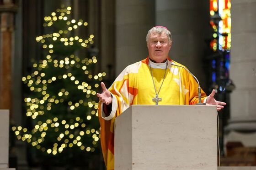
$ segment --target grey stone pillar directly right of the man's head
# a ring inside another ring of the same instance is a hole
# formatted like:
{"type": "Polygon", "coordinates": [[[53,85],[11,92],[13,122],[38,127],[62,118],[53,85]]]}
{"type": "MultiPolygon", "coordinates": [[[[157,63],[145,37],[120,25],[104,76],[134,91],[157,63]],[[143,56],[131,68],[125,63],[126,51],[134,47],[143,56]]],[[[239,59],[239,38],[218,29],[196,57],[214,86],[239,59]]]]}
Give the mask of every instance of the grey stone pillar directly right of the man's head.
{"type": "Polygon", "coordinates": [[[203,52],[208,48],[205,39],[211,36],[209,1],[156,0],[156,25],[171,31],[170,58],[186,65],[204,87],[203,52]]]}

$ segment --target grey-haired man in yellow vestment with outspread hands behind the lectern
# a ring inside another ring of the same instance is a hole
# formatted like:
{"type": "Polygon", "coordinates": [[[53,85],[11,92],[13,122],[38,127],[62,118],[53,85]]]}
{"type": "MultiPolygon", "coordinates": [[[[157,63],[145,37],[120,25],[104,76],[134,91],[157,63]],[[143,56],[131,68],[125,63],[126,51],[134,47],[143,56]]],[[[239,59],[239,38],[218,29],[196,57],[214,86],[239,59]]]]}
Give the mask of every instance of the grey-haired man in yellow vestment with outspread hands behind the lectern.
{"type": "MultiPolygon", "coordinates": [[[[114,120],[130,105],[194,105],[198,102],[198,84],[181,65],[168,58],[171,49],[171,32],[163,26],[149,30],[146,36],[149,56],[129,65],[99,97],[101,147],[107,170],[114,169],[114,120]],[[175,64],[175,65],[172,65],[175,64]],[[103,105],[102,105],[103,104],[103,105]]],[[[182,65],[181,65],[182,66],[182,65]]],[[[215,90],[202,100],[208,105],[224,108],[224,102],[216,101],[215,90]]]]}

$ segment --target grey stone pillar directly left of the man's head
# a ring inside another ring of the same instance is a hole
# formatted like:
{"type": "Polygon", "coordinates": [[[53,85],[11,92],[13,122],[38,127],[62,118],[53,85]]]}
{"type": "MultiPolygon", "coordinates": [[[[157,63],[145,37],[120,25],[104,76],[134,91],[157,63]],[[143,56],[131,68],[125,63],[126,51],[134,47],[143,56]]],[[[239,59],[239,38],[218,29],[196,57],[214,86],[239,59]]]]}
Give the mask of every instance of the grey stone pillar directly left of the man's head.
{"type": "Polygon", "coordinates": [[[116,75],[147,57],[146,35],[155,26],[155,0],[116,0],[116,75]]]}

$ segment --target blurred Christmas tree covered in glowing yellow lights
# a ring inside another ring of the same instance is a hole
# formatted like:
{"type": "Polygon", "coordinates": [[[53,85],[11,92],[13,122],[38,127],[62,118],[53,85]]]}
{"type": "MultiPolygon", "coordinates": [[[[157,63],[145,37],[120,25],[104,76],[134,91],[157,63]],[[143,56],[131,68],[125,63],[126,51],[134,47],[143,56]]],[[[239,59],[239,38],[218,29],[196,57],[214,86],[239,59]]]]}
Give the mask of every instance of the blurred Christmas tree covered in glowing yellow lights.
{"type": "Polygon", "coordinates": [[[35,61],[32,73],[22,77],[27,87],[26,115],[32,126],[12,127],[17,139],[36,148],[37,155],[45,160],[58,158],[51,160],[56,160],[54,164],[99,150],[96,91],[106,73],[96,73],[96,56],[88,52],[94,35],[76,35],[88,23],[70,14],[71,7],[62,6],[44,17],[48,34],[36,37],[43,47],[43,59],[35,61]],[[77,56],[81,50],[87,56],[77,56]]]}

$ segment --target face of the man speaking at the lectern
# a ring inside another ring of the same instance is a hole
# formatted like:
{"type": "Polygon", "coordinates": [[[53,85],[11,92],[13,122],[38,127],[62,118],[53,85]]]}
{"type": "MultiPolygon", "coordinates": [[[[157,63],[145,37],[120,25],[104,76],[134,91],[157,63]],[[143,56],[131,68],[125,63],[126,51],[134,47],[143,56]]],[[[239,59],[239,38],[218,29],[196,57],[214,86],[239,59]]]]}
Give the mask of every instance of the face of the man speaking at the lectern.
{"type": "Polygon", "coordinates": [[[171,42],[165,33],[156,34],[151,33],[149,35],[149,42],[147,44],[149,49],[149,57],[158,63],[163,62],[168,57],[168,53],[171,49],[171,42]]]}

